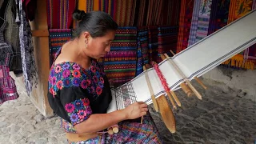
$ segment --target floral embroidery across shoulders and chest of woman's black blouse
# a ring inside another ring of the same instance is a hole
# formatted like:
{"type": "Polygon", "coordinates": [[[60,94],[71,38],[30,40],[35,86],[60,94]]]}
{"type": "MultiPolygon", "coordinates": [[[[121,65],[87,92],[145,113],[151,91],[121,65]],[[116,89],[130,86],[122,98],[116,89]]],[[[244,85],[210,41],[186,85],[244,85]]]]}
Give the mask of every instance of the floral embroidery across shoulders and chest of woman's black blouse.
{"type": "MultiPolygon", "coordinates": [[[[102,94],[104,79],[102,69],[97,62],[92,61],[88,70],[83,69],[74,62],[62,62],[51,67],[49,76],[49,92],[57,94],[64,87],[81,86],[87,90],[92,97],[97,98],[102,94]]],[[[75,119],[75,117],[74,117],[75,119]]]]}

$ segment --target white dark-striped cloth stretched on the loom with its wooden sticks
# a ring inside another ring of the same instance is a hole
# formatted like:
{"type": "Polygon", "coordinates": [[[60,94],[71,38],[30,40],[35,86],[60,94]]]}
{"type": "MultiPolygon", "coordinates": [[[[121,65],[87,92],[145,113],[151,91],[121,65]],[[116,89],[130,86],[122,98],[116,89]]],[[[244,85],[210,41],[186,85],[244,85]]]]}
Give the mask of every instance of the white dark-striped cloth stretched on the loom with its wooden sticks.
{"type": "MultiPolygon", "coordinates": [[[[162,58],[164,60],[158,64],[158,69],[164,78],[159,77],[158,70],[154,67],[143,71],[142,74],[139,74],[130,82],[126,82],[124,85],[113,89],[113,101],[111,102],[109,112],[123,109],[133,102],[142,101],[148,105],[154,103],[154,107],[159,106],[158,108],[167,128],[170,132],[174,133],[176,128],[172,111],[170,107],[168,108],[165,104],[158,102],[158,98],[168,95],[174,105],[173,107],[175,107],[170,94],[168,94],[169,91],[166,90],[178,90],[181,88],[182,82],[186,82],[198,99],[202,99],[202,95],[195,90],[190,81],[206,74],[206,72],[219,66],[235,54],[254,45],[256,43],[255,26],[256,10],[253,10],[221,30],[203,38],[186,50],[175,54],[172,58],[164,54],[166,59],[162,58]],[[241,29],[241,27],[243,28],[241,29]],[[165,80],[167,88],[163,82],[165,80]],[[149,83],[151,86],[149,86],[149,83]],[[168,111],[163,112],[162,110],[168,111]],[[171,115],[171,118],[165,119],[165,114],[171,115]]],[[[175,98],[175,95],[173,96],[178,104],[177,98],[175,98]]]]}

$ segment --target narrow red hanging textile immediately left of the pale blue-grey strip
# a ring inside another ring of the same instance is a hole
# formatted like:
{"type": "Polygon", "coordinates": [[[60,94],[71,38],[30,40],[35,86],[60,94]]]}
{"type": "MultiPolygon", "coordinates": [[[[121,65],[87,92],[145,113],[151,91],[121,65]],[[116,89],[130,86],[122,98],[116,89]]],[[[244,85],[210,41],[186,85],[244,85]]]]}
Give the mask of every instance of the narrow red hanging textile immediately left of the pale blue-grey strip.
{"type": "Polygon", "coordinates": [[[177,53],[185,50],[190,36],[191,19],[194,8],[194,0],[182,0],[180,22],[178,30],[177,53]]]}

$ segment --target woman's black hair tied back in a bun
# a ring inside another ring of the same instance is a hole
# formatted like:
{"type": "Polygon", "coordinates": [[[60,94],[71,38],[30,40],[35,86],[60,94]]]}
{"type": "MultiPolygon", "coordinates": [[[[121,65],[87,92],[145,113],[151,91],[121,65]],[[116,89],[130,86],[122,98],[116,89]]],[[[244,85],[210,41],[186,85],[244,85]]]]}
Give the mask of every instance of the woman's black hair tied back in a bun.
{"type": "Polygon", "coordinates": [[[74,10],[73,18],[78,21],[75,30],[77,37],[84,31],[88,31],[92,38],[102,37],[108,30],[118,28],[113,18],[103,11],[91,11],[86,14],[83,10],[74,10]]]}

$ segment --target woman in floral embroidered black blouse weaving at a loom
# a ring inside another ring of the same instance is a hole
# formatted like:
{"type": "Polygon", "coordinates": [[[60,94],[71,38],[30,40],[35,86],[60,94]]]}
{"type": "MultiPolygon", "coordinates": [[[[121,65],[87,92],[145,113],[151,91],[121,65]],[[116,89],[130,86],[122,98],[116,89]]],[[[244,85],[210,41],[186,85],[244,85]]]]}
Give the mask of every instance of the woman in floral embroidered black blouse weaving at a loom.
{"type": "Polygon", "coordinates": [[[147,105],[135,102],[106,114],[110,83],[95,59],[110,51],[118,25],[110,15],[76,10],[77,38],[66,42],[50,69],[48,99],[70,143],[161,143],[147,105]],[[143,124],[138,118],[144,116],[143,124]],[[118,124],[118,133],[104,133],[118,124]]]}

